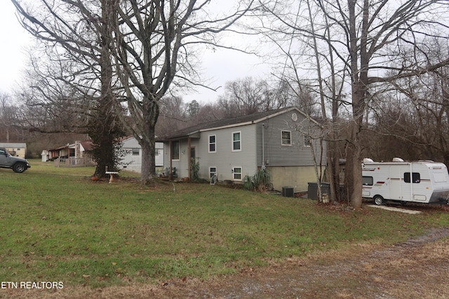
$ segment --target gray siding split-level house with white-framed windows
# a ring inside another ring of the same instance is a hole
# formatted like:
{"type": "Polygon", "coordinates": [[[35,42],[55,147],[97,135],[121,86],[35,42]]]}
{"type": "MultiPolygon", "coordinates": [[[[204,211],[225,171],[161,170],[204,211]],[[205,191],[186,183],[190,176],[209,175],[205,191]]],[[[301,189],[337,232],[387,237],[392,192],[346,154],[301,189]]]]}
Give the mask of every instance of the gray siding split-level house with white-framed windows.
{"type": "Polygon", "coordinates": [[[307,190],[316,181],[314,158],[326,164],[321,134],[319,123],[292,107],[188,127],[159,141],[164,168],[179,178],[192,176],[189,161],[195,158],[201,179],[216,174],[218,181],[240,183],[267,167],[276,190],[307,190]]]}

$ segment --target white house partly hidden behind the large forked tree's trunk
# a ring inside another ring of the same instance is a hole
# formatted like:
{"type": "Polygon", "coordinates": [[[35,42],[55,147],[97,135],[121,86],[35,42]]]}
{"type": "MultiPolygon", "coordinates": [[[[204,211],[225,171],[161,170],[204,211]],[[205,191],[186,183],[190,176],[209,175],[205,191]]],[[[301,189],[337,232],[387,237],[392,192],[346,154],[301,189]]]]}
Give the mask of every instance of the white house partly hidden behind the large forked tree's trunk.
{"type": "MultiPolygon", "coordinates": [[[[121,141],[121,150],[125,154],[119,166],[133,172],[140,172],[142,168],[142,148],[135,137],[121,141]]],[[[156,167],[163,166],[163,143],[156,142],[156,167]]]]}

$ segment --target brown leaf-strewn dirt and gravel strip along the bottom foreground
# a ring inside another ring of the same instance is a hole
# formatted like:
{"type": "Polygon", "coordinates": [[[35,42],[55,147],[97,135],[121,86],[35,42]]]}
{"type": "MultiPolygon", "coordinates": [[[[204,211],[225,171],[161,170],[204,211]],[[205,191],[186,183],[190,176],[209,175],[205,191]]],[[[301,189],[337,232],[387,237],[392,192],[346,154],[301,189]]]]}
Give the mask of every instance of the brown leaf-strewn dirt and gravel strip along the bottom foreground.
{"type": "Polygon", "coordinates": [[[394,246],[354,244],[207,281],[0,290],[0,298],[449,298],[448,236],[449,228],[434,229],[394,246]]]}

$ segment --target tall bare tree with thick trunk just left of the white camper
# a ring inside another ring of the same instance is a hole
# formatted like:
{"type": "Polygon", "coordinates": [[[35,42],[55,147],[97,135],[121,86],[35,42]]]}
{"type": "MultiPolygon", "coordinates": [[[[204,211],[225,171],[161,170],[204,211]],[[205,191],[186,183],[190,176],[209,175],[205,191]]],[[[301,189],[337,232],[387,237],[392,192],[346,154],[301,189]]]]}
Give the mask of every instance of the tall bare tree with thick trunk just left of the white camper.
{"type": "Polygon", "coordinates": [[[405,61],[400,54],[409,46],[413,47],[410,53],[425,53],[430,38],[446,39],[448,27],[443,20],[449,3],[441,0],[260,2],[264,13],[269,12],[274,18],[274,22],[264,23],[272,24],[264,30],[269,29],[272,41],[277,41],[283,53],[288,53],[288,65],[295,62],[295,72],[300,74],[307,69],[307,77],[314,78],[321,93],[328,84],[336,86],[337,81],[332,81],[335,78],[344,83],[350,116],[345,183],[352,206],[361,207],[360,164],[364,146],[361,132],[366,127],[367,106],[375,99],[373,88],[380,90],[380,85],[398,77],[416,76],[448,63],[446,58],[438,64],[428,64],[427,60],[420,60],[420,55],[410,55],[405,61]],[[326,64],[319,67],[319,62],[326,64]],[[349,78],[344,74],[349,74],[349,78]]]}

